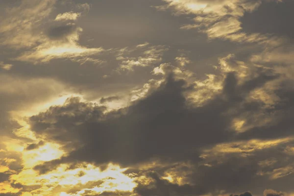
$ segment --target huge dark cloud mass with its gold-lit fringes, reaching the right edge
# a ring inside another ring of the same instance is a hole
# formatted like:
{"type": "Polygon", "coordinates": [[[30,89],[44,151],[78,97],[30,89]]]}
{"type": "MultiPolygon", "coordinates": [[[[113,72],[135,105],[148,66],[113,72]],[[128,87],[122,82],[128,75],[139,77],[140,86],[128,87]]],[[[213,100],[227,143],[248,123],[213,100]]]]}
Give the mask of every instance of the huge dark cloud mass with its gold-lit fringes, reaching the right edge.
{"type": "Polygon", "coordinates": [[[155,181],[147,177],[145,184],[137,182],[135,192],[141,195],[216,194],[221,189],[237,193],[238,187],[250,190],[253,184],[287,177],[293,169],[292,159],[261,164],[269,153],[279,160],[293,143],[287,128],[274,131],[287,119],[271,114],[280,99],[269,105],[262,96],[252,97],[258,90],[268,91],[270,98],[282,98],[278,90],[281,75],[245,64],[234,55],[221,58],[218,69],[221,75],[201,81],[182,66],[161,64],[153,70],[161,78],[137,91],[137,98],[128,106],[108,112],[95,103],[69,98],[64,105],[30,117],[37,136],[58,143],[66,152],[34,169],[46,175],[62,164],[103,166],[112,162],[137,173],[158,158],[159,164],[151,164],[148,170],[158,171],[161,177],[155,181]],[[269,88],[271,83],[276,87],[269,88]],[[204,101],[196,101],[196,96],[204,101]],[[256,140],[256,129],[267,134],[256,140]],[[156,181],[162,188],[154,188],[156,181]]]}

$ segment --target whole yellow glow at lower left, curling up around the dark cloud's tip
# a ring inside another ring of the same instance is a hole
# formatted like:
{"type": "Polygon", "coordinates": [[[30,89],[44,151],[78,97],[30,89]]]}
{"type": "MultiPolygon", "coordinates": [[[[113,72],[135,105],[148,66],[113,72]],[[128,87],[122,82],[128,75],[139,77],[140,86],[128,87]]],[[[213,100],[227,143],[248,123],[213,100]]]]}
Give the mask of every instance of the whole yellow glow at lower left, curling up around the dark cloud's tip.
{"type": "MultiPolygon", "coordinates": [[[[36,139],[35,135],[30,131],[29,125],[22,117],[25,114],[32,115],[33,113],[44,111],[52,105],[64,104],[65,100],[72,96],[79,97],[79,95],[65,95],[59,98],[53,98],[45,104],[39,103],[27,111],[19,112],[17,119],[24,127],[15,131],[15,134],[33,139],[34,143],[38,143],[39,139],[36,139]]],[[[66,191],[70,190],[73,186],[77,186],[80,192],[70,194],[70,196],[81,196],[85,191],[91,194],[100,194],[104,191],[131,192],[136,186],[134,176],[123,174],[126,169],[122,169],[113,164],[109,164],[105,171],[100,171],[98,167],[85,163],[74,170],[68,170],[69,165],[63,164],[54,171],[39,175],[38,172],[32,169],[34,166],[65,155],[65,152],[61,150],[58,144],[45,142],[45,145],[36,149],[25,150],[27,143],[24,143],[22,140],[5,138],[4,141],[6,145],[5,150],[21,153],[22,165],[24,166],[24,169],[20,173],[12,174],[10,179],[26,186],[41,185],[39,189],[23,193],[23,196],[51,196],[52,194],[66,196],[68,195],[66,191]],[[81,172],[83,175],[79,175],[81,172]],[[88,182],[97,182],[97,186],[85,187],[88,182]],[[57,186],[61,186],[62,188],[55,189],[57,186]]],[[[12,162],[15,160],[11,159],[7,161],[12,162]]],[[[0,168],[0,172],[6,172],[7,170],[8,167],[3,166],[0,168]]],[[[6,191],[11,192],[9,187],[6,188],[6,191]]],[[[17,192],[18,190],[14,191],[17,192]]]]}

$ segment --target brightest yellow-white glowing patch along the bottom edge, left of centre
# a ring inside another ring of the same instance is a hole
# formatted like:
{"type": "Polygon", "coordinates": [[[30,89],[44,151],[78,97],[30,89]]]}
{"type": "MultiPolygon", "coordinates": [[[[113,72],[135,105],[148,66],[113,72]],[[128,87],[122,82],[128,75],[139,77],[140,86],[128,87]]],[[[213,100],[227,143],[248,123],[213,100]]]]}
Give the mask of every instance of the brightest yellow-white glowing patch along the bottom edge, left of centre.
{"type": "MultiPolygon", "coordinates": [[[[98,167],[88,164],[81,165],[81,167],[74,170],[67,170],[69,165],[63,164],[59,166],[56,170],[51,171],[47,174],[38,175],[38,173],[32,169],[26,169],[11,176],[12,180],[16,180],[23,185],[42,185],[42,188],[37,191],[41,191],[42,195],[52,195],[52,190],[46,190],[44,187],[50,186],[52,189],[57,186],[61,186],[63,189],[69,190],[73,186],[81,187],[82,191],[91,191],[96,194],[100,194],[104,191],[125,191],[131,192],[136,183],[135,178],[131,178],[128,175],[123,174],[126,169],[122,169],[117,165],[109,164],[108,168],[101,171],[98,167]],[[80,173],[83,175],[80,175],[80,173]],[[99,185],[92,188],[82,188],[88,182],[99,182],[99,185]]],[[[36,191],[36,190],[35,190],[36,191]]],[[[56,193],[60,196],[68,196],[66,192],[62,191],[56,193]]],[[[79,194],[73,194],[70,196],[79,196],[79,194]]]]}

